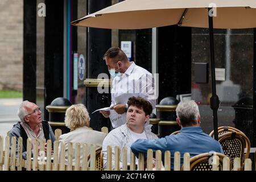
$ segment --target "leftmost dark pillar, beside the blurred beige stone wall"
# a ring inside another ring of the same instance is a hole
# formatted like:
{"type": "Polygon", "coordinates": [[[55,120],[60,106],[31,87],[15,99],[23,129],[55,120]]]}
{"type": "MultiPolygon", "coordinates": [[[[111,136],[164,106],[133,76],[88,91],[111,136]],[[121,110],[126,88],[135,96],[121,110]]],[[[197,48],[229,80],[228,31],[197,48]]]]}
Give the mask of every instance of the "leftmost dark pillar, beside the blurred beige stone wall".
{"type": "Polygon", "coordinates": [[[36,102],[36,1],[23,1],[23,100],[36,102]]]}

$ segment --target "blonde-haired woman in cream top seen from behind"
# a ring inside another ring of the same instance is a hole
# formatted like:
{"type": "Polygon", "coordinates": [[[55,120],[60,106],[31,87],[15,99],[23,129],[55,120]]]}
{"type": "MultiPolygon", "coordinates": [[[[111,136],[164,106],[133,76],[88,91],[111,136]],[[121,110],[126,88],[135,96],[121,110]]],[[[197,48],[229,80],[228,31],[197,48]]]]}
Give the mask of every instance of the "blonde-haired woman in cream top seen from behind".
{"type": "MultiPolygon", "coordinates": [[[[81,144],[80,163],[82,164],[82,146],[88,144],[88,155],[90,154],[90,144],[95,144],[96,148],[102,146],[106,137],[105,133],[90,130],[90,117],[86,107],[83,104],[72,105],[68,107],[65,113],[65,125],[71,129],[71,132],[60,135],[60,142],[65,142],[65,163],[68,164],[68,143],[73,143],[73,165],[75,165],[76,143],[81,144]]],[[[59,146],[60,152],[60,146],[59,146]]]]}

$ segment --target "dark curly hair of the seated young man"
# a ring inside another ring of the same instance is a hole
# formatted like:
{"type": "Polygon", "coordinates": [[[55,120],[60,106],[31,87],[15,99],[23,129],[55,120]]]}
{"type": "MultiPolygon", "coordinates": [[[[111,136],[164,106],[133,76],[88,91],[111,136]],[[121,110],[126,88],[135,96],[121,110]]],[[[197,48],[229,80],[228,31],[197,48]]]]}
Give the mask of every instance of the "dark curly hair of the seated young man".
{"type": "Polygon", "coordinates": [[[147,100],[144,100],[142,97],[130,97],[128,102],[128,108],[130,106],[136,106],[139,109],[143,109],[145,115],[150,115],[152,113],[153,107],[147,100]]]}

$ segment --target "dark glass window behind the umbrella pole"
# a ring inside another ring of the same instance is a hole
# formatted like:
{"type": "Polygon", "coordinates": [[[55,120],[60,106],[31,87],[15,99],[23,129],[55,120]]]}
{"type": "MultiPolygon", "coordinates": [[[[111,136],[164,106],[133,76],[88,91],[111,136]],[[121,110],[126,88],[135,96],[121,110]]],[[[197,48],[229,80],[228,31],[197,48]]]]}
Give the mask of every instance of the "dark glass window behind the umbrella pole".
{"type": "MultiPolygon", "coordinates": [[[[250,133],[243,127],[241,114],[253,109],[253,29],[214,30],[214,56],[216,68],[224,69],[224,80],[216,81],[220,98],[218,126],[233,126],[250,133]],[[240,120],[240,121],[239,121],[240,120]]],[[[213,130],[210,96],[212,93],[210,78],[210,54],[208,28],[192,28],[192,100],[199,104],[201,126],[206,133],[213,130]],[[197,84],[194,80],[193,63],[209,63],[208,84],[197,84]]],[[[251,114],[248,121],[253,121],[251,114]]]]}

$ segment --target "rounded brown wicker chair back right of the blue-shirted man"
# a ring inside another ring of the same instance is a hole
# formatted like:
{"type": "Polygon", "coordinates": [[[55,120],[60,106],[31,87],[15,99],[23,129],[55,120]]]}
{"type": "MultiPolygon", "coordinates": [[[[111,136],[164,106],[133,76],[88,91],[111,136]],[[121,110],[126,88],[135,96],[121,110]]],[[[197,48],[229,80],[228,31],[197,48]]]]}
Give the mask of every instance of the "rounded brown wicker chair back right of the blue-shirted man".
{"type": "Polygon", "coordinates": [[[234,162],[234,158],[240,158],[242,166],[243,161],[249,158],[250,140],[245,134],[232,131],[221,135],[218,138],[218,141],[221,144],[224,154],[229,157],[232,164],[234,162]],[[244,155],[245,146],[247,146],[246,155],[244,155]]]}

